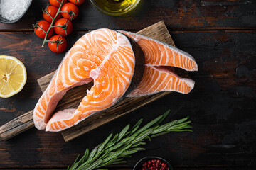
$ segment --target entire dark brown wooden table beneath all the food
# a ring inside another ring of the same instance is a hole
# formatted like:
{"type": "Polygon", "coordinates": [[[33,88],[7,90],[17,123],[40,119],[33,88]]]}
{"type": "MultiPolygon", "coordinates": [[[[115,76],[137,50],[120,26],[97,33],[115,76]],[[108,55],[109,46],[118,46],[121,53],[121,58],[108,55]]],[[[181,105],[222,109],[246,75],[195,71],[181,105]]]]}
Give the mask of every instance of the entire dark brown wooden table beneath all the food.
{"type": "MultiPolygon", "coordinates": [[[[0,125],[34,108],[41,90],[36,79],[53,72],[63,54],[41,47],[32,24],[40,20],[48,1],[33,1],[18,23],[0,23],[0,55],[13,55],[27,69],[24,89],[0,99],[0,125]]],[[[176,46],[193,55],[199,71],[192,72],[196,86],[188,95],[170,94],[122,118],[102,125],[70,142],[60,133],[32,128],[8,141],[0,141],[2,169],[65,169],[87,147],[92,149],[124,125],[139,118],[148,121],[171,108],[173,120],[191,116],[194,132],[171,132],[148,142],[146,151],[127,164],[111,169],[132,169],[149,155],[167,159],[175,169],[256,168],[256,2],[142,0],[134,12],[112,17],[89,1],[68,36],[68,48],[88,30],[112,28],[137,31],[163,20],[176,46]]]]}

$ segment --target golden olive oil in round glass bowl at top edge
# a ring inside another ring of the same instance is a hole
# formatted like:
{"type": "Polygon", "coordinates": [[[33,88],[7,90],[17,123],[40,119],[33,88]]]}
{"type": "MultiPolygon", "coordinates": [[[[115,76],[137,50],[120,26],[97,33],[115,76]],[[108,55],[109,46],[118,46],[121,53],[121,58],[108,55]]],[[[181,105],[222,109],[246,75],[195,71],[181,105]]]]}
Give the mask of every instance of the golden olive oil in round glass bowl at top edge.
{"type": "Polygon", "coordinates": [[[108,13],[125,13],[139,0],[95,0],[97,6],[108,13]]]}

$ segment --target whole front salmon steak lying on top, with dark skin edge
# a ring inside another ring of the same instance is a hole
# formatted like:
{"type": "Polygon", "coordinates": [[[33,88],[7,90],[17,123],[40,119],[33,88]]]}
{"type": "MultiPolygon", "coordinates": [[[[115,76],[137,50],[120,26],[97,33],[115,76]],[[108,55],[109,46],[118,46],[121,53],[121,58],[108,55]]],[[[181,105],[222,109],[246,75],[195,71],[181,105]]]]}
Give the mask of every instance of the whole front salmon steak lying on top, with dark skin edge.
{"type": "Polygon", "coordinates": [[[141,47],[115,30],[99,29],[82,36],[67,52],[33,111],[36,128],[60,131],[93,113],[110,108],[135,89],[144,72],[141,47]],[[53,115],[65,93],[93,81],[77,109],[53,115]],[[53,116],[52,116],[53,115],[53,116]]]}

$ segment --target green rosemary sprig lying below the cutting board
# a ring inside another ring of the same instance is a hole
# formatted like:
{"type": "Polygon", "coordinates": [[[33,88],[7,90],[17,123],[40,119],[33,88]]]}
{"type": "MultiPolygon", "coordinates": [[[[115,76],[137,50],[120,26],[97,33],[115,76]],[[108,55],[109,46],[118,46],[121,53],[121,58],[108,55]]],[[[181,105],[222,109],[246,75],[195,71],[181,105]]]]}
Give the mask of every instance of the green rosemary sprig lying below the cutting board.
{"type": "Polygon", "coordinates": [[[169,132],[192,132],[192,130],[188,129],[192,128],[191,125],[188,125],[191,123],[191,121],[188,121],[189,117],[160,125],[169,113],[170,110],[166,111],[164,115],[151,120],[142,128],[139,128],[142,123],[142,119],[140,119],[130,130],[130,125],[127,125],[114,137],[112,137],[113,134],[111,133],[104,142],[97,145],[91,152],[86,149],[85,154],[79,160],[78,158],[75,159],[73,165],[68,166],[68,170],[92,170],[99,169],[102,166],[121,164],[125,162],[125,158],[131,157],[131,154],[144,150],[143,147],[139,146],[146,145],[144,142],[146,139],[150,140],[151,137],[157,137],[169,132]]]}

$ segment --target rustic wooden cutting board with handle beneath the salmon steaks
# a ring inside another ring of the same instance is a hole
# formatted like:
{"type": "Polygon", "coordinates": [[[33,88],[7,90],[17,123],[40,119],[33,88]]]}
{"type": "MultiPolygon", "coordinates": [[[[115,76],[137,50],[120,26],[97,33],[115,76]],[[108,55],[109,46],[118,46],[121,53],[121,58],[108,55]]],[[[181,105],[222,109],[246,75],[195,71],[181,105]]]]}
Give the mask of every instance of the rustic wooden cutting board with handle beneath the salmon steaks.
{"type": "MultiPolygon", "coordinates": [[[[169,34],[164,21],[160,21],[159,23],[155,23],[152,26],[144,28],[138,33],[150,38],[154,38],[161,42],[174,45],[174,41],[171,39],[171,35],[169,34]]],[[[175,72],[181,77],[188,77],[187,72],[183,72],[181,69],[176,69],[175,72]]],[[[55,72],[52,72],[45,77],[38,79],[38,84],[42,91],[46,90],[46,87],[50,83],[50,79],[53,77],[54,73],[55,72]]],[[[65,94],[65,96],[63,96],[61,101],[58,103],[55,111],[63,110],[65,108],[77,108],[80,101],[82,101],[82,98],[86,95],[87,89],[92,85],[93,83],[90,83],[75,87],[74,89],[70,89],[70,91],[68,91],[67,94],[65,94]]],[[[83,120],[81,123],[78,123],[78,125],[75,125],[67,130],[63,130],[61,133],[65,141],[73,140],[75,137],[78,137],[85,132],[95,129],[100,125],[110,122],[111,120],[119,118],[122,115],[134,111],[135,109],[140,108],[150,103],[151,101],[156,101],[156,99],[159,99],[170,93],[171,92],[162,92],[151,96],[124,98],[124,100],[120,101],[111,108],[108,108],[107,110],[101,111],[99,113],[95,113],[83,120]]],[[[25,130],[28,130],[29,128],[33,128],[33,126],[33,111],[29,111],[28,113],[25,113],[18,118],[11,120],[9,123],[2,125],[0,127],[0,137],[2,140],[7,140],[25,130]]]]}

